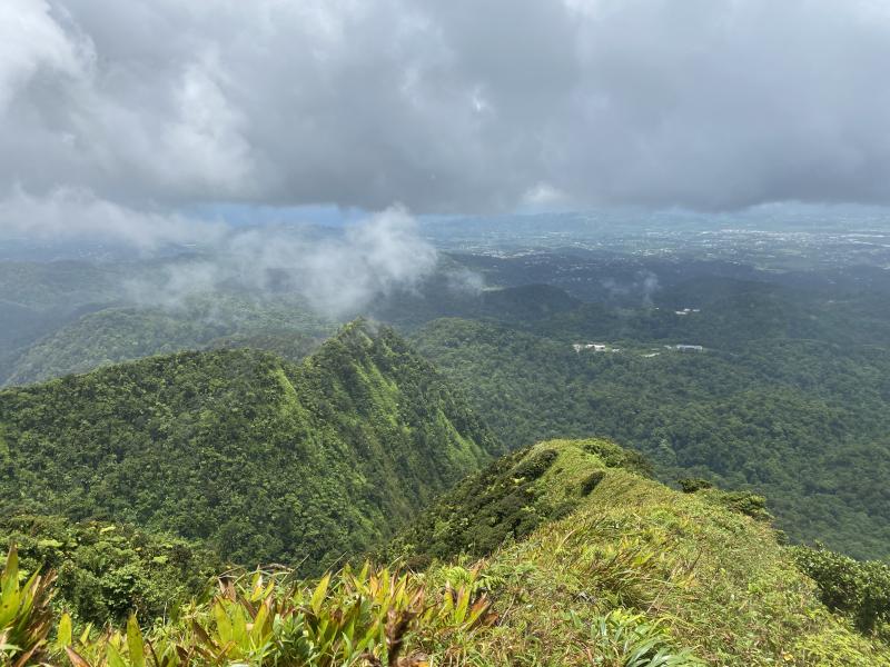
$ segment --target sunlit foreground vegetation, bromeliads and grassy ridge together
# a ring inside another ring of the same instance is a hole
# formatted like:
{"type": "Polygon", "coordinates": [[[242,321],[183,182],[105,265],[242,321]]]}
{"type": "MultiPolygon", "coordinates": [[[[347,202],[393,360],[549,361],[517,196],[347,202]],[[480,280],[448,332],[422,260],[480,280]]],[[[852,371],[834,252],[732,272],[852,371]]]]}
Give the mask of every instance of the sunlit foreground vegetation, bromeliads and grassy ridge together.
{"type": "MultiPolygon", "coordinates": [[[[141,629],[138,617],[126,629],[85,631],[53,615],[52,575],[19,584],[13,554],[0,650],[13,664],[30,651],[75,667],[890,664],[873,631],[820,601],[768,522],[715,502],[713,489],[672,491],[633,471],[639,457],[601,440],[542,442],[505,461],[484,477],[520,487],[534,477],[526,511],[542,501],[573,509],[522,538],[505,535],[487,558],[423,573],[347,567],[317,581],[231,573],[214,595],[141,629]]],[[[463,519],[486,521],[503,497],[465,494],[474,505],[463,519]]]]}

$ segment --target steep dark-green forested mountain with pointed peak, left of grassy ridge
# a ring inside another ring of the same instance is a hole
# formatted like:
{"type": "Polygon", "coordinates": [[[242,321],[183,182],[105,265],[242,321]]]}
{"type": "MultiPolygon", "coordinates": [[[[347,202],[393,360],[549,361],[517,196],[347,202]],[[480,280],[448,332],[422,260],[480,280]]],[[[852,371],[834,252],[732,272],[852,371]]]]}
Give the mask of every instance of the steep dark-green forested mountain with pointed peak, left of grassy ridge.
{"type": "Polygon", "coordinates": [[[0,391],[4,511],[131,522],[301,571],[367,550],[500,451],[427,361],[360,321],[298,365],[181,352],[0,391]]]}

